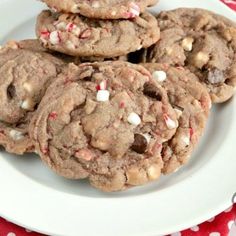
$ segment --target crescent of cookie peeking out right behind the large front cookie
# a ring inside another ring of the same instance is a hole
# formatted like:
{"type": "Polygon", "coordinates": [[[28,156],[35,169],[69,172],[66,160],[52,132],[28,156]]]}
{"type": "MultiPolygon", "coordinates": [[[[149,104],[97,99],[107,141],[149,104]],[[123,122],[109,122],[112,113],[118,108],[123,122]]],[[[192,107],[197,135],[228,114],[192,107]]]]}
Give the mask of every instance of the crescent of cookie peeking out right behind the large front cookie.
{"type": "Polygon", "coordinates": [[[183,67],[167,64],[143,64],[167,91],[171,105],[178,114],[179,126],[175,135],[163,144],[162,173],[169,174],[190,158],[204,132],[211,108],[211,99],[205,86],[183,67]]]}

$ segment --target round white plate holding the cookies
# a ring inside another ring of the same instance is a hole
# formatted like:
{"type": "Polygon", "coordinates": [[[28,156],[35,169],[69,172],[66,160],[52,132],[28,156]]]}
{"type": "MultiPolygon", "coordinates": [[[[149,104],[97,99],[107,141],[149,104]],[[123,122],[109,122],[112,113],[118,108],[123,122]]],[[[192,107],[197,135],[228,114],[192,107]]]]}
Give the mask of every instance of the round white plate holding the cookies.
{"type": "MultiPolygon", "coordinates": [[[[33,0],[0,0],[0,40],[34,37],[33,0]]],[[[202,7],[236,20],[218,0],[162,0],[155,11],[202,7]],[[201,4],[200,4],[201,3],[201,4]]],[[[236,99],[215,106],[190,163],[160,182],[103,194],[86,181],[49,171],[36,156],[0,152],[0,215],[27,228],[64,236],[156,236],[179,231],[223,211],[236,192],[236,99]]]]}

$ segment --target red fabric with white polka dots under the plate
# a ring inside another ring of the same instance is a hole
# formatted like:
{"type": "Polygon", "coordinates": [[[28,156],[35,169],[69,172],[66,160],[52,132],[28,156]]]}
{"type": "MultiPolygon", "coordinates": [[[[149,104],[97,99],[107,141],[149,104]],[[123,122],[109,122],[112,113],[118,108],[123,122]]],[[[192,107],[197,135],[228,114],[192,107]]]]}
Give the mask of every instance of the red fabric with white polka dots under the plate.
{"type": "MultiPolygon", "coordinates": [[[[236,11],[236,0],[221,0],[236,11]]],[[[192,226],[170,236],[229,236],[232,227],[236,228],[236,204],[208,221],[192,226]]],[[[232,236],[236,235],[235,233],[232,236]]],[[[0,217],[0,236],[43,236],[28,229],[14,225],[0,217]]]]}

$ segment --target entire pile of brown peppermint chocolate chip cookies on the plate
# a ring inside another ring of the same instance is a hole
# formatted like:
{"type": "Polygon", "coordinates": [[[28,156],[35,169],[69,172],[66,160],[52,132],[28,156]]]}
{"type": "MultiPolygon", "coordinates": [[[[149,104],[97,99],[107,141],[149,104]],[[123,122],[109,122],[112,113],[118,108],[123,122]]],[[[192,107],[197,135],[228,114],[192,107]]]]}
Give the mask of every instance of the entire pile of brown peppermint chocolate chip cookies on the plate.
{"type": "Polygon", "coordinates": [[[234,94],[236,25],[202,9],[155,18],[143,12],[152,1],[45,2],[54,10],[38,17],[42,45],[0,49],[0,144],[102,191],[187,163],[212,102],[234,94]],[[120,60],[130,52],[141,64],[120,60]]]}

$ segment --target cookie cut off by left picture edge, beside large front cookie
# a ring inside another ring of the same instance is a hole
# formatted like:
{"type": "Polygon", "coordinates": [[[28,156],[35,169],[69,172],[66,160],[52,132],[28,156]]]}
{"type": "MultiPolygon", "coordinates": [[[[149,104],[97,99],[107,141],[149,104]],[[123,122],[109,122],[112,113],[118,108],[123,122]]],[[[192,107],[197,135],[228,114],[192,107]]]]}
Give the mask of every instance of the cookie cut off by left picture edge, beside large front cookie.
{"type": "Polygon", "coordinates": [[[33,150],[28,125],[49,83],[64,62],[11,42],[0,50],[0,145],[23,154],[33,150]]]}

